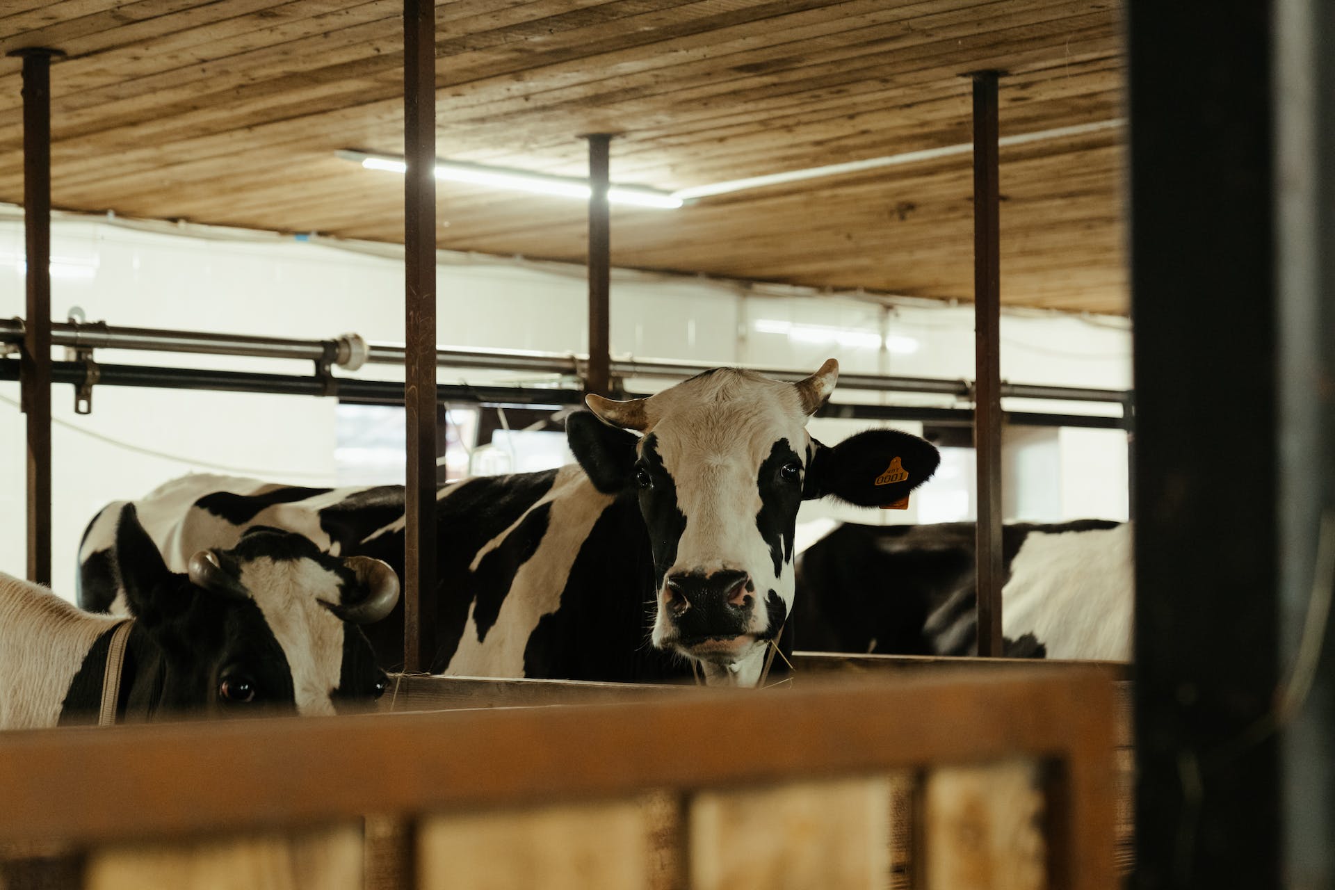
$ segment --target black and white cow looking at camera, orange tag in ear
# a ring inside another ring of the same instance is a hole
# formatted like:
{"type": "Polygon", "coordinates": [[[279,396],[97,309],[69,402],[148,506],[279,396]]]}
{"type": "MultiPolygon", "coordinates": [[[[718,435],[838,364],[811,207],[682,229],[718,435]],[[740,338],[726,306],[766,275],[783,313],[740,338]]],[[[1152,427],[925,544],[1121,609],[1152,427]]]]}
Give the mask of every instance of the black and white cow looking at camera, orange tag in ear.
{"type": "MultiPolygon", "coordinates": [[[[873,430],[826,447],[806,432],[838,364],[798,383],[717,368],[645,399],[589,396],[566,423],[577,466],[489,476],[438,495],[439,619],[431,669],[455,675],[754,685],[793,606],[804,499],[877,507],[936,470],[929,443],[873,430]]],[[[168,563],[266,524],[402,570],[403,490],[294,488],[187,476],[139,502],[168,563]]],[[[80,603],[113,608],[99,564],[113,520],[80,551],[80,603]]],[[[402,608],[368,628],[402,663],[402,608]]],[[[786,636],[786,634],[785,634],[786,636]]]]}

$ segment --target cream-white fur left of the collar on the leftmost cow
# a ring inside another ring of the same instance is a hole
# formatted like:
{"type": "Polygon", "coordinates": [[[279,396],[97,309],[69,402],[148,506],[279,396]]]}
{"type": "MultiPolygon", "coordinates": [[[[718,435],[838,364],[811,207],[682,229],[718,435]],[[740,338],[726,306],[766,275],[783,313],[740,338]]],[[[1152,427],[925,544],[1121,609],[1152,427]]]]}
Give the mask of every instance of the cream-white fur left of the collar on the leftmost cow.
{"type": "Polygon", "coordinates": [[[0,730],[55,726],[88,650],[119,620],[0,572],[0,730]]]}

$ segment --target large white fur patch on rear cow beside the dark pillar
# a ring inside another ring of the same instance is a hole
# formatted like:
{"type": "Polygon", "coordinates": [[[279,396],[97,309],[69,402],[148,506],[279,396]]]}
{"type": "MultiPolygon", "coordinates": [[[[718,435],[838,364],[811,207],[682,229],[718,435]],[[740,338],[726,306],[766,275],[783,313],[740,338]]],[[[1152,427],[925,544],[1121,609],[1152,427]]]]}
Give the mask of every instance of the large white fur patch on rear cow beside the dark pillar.
{"type": "Polygon", "coordinates": [[[1131,660],[1131,523],[1031,532],[1001,591],[1001,632],[1033,634],[1048,658],[1131,660]]]}

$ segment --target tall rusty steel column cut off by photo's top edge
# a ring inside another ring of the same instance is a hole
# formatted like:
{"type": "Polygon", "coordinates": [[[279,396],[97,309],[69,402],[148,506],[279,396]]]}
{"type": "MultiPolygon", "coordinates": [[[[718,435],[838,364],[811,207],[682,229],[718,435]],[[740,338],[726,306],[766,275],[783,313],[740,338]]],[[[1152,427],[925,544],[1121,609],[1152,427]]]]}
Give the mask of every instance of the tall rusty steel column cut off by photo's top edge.
{"type": "Polygon", "coordinates": [[[403,670],[435,656],[435,3],[403,0],[405,288],[403,670]]]}

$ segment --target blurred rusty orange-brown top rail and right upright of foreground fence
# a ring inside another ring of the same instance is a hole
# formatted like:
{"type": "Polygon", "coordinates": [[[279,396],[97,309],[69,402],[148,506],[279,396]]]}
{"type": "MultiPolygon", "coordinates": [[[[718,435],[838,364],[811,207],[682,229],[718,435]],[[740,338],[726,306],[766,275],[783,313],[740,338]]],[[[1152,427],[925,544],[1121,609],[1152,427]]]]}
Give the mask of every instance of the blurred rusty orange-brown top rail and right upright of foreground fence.
{"type": "Polygon", "coordinates": [[[1028,753],[1071,766],[1053,818],[1069,823],[1080,869],[1060,886],[1104,890],[1113,886],[1112,694],[1099,671],[1071,669],[700,690],[617,707],[5,733],[0,839],[219,835],[256,823],[574,803],[1028,753]],[[718,741],[738,727],[782,743],[737,757],[718,741]],[[164,777],[188,778],[190,793],[164,777]]]}

